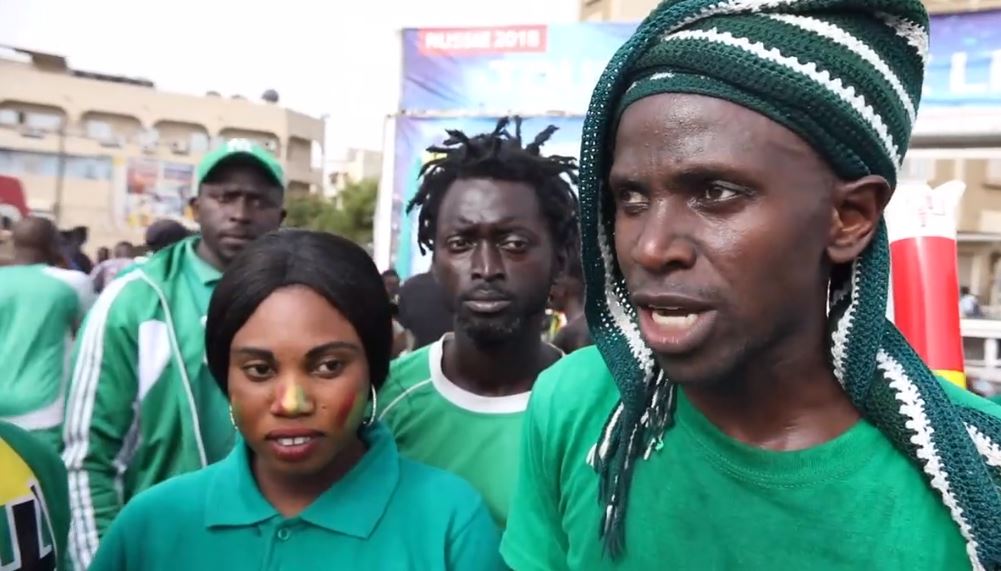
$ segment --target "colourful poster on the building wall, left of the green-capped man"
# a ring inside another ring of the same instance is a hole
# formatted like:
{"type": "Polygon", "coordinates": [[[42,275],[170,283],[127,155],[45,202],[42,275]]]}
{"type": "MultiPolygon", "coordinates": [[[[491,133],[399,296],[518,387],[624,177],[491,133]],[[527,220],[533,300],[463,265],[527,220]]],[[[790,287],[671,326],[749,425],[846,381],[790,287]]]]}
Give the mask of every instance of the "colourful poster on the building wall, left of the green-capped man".
{"type": "Polygon", "coordinates": [[[160,218],[192,220],[188,200],[193,195],[193,165],[130,158],[125,165],[126,225],[144,228],[160,218]]]}

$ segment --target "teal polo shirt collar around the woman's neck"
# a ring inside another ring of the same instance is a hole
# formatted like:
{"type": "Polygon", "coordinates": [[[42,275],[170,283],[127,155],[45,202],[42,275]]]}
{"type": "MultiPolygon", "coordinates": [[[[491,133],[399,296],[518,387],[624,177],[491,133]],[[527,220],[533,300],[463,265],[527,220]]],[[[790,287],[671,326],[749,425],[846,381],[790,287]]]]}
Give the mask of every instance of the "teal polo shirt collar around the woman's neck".
{"type": "MultiPolygon", "coordinates": [[[[299,519],[360,539],[375,530],[399,483],[399,452],[381,423],[363,429],[361,438],[368,450],[358,464],[316,498],[299,519]]],[[[207,501],[206,527],[248,526],[280,517],[257,488],[242,439],[218,464],[207,501]]]]}

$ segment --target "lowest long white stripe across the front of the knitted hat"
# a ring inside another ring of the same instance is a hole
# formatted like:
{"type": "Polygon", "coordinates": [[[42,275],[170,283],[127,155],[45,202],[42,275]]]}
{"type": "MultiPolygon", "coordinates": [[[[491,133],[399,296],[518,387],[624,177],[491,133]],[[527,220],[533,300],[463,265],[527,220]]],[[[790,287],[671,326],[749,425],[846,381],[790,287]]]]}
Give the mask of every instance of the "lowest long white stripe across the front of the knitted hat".
{"type": "Polygon", "coordinates": [[[900,148],[893,140],[893,136],[890,134],[883,117],[881,117],[879,113],[873,109],[872,105],[866,101],[864,96],[860,95],[855,90],[854,86],[845,85],[844,81],[842,81],[840,77],[833,77],[830,71],[818,68],[815,62],[803,63],[795,57],[783,55],[778,48],[770,48],[759,41],[752,41],[748,38],[737,37],[730,32],[721,32],[716,28],[710,30],[686,30],[676,32],[668,34],[662,41],[672,42],[683,40],[705,40],[738,48],[759,59],[776,63],[807,77],[814,83],[817,83],[827,91],[836,95],[843,102],[847,103],[849,107],[851,107],[851,109],[855,111],[855,113],[859,115],[859,117],[861,117],[867,125],[869,125],[870,129],[872,129],[874,134],[876,134],[877,138],[879,138],[882,143],[883,150],[886,151],[887,155],[892,157],[891,162],[893,163],[894,171],[897,170],[900,162],[903,160],[900,148]]]}

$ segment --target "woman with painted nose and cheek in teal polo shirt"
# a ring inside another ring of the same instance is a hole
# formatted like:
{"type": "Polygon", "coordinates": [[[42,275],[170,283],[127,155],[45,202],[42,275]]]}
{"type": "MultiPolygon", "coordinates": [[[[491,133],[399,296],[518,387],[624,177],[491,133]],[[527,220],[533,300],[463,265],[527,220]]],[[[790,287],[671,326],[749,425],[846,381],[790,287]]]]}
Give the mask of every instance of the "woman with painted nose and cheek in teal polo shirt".
{"type": "Polygon", "coordinates": [[[246,248],[205,336],[241,442],[132,499],[90,569],[503,569],[482,499],[372,420],[390,319],[348,240],[286,229],[246,248]]]}

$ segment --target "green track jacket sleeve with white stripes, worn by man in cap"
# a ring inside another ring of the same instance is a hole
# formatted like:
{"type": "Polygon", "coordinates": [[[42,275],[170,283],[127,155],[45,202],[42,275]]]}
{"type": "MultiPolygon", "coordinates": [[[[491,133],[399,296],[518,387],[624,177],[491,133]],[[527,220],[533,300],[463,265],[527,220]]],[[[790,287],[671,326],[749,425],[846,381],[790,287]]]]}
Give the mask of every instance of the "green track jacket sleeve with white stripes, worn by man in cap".
{"type": "Polygon", "coordinates": [[[121,289],[106,292],[77,336],[63,431],[76,569],[87,568],[122,497],[130,496],[116,465],[138,393],[138,318],[128,302],[121,289]]]}

